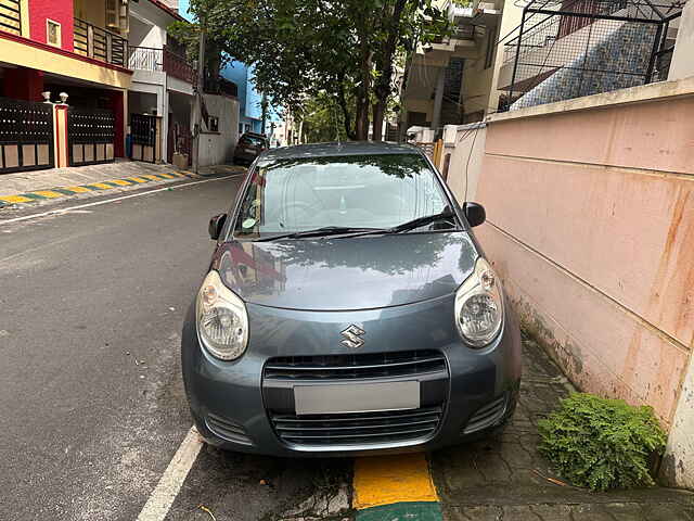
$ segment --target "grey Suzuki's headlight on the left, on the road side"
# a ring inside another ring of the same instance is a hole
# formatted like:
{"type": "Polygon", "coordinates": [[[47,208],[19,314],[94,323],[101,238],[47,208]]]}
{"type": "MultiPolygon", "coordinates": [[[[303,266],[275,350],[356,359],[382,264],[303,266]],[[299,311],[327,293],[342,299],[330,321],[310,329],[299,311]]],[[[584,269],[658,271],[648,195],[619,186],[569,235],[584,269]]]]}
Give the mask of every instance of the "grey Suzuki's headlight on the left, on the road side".
{"type": "Polygon", "coordinates": [[[195,314],[200,340],[213,356],[235,360],[244,354],[248,343],[246,306],[222,283],[217,271],[205,277],[195,314]]]}

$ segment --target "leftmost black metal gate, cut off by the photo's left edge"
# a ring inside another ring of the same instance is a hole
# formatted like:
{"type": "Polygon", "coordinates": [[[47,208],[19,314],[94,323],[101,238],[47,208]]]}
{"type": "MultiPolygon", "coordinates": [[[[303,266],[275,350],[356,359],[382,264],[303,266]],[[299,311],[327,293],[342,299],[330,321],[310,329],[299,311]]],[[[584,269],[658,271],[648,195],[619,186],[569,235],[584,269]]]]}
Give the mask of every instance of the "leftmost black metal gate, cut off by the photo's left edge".
{"type": "Polygon", "coordinates": [[[53,105],[0,98],[0,174],[54,164],[53,105]]]}

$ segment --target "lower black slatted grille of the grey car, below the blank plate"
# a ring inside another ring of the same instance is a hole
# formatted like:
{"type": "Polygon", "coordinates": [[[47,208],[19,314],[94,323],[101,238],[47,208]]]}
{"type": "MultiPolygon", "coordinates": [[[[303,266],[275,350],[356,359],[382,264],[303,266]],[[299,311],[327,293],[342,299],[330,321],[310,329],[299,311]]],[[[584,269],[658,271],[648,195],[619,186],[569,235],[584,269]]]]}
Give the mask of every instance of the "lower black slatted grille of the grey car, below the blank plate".
{"type": "Polygon", "coordinates": [[[272,427],[286,443],[307,446],[373,445],[429,437],[441,420],[442,406],[382,412],[279,415],[272,427]]]}

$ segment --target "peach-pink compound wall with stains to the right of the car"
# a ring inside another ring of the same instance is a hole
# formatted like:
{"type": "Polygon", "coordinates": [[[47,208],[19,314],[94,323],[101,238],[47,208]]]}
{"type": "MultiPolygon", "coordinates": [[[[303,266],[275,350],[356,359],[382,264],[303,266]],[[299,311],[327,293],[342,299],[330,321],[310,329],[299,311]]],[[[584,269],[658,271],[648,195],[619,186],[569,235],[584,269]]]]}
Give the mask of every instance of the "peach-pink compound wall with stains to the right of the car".
{"type": "Polygon", "coordinates": [[[491,116],[475,196],[525,326],[580,389],[652,405],[694,485],[694,81],[491,116]]]}

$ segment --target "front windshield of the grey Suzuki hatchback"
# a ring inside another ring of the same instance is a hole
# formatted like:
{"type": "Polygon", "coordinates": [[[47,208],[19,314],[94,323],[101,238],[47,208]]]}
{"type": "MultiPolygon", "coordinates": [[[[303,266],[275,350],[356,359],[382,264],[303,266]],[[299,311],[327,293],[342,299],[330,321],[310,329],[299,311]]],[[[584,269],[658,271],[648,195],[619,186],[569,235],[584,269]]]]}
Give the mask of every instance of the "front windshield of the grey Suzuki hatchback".
{"type": "Polygon", "coordinates": [[[434,171],[419,154],[265,162],[252,174],[234,234],[391,228],[441,213],[448,204],[434,171]]]}

